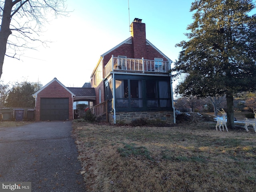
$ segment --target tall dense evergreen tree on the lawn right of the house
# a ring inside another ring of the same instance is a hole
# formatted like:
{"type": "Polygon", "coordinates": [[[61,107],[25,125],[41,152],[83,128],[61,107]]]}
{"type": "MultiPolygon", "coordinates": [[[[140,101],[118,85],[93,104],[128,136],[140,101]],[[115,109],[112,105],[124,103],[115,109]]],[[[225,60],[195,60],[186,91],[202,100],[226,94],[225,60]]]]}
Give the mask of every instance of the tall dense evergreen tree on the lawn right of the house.
{"type": "Polygon", "coordinates": [[[256,16],[252,0],[195,0],[188,41],[175,62],[188,74],[176,92],[183,96],[226,94],[227,125],[234,128],[234,94],[256,88],[256,16]]]}

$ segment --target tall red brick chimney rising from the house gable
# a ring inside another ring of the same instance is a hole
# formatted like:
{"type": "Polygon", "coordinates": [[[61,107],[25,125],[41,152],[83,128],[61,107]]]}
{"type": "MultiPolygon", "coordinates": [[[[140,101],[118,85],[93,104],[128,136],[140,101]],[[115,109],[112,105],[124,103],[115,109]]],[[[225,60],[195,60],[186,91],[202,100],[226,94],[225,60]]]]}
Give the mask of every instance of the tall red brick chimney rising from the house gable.
{"type": "Polygon", "coordinates": [[[131,24],[134,58],[142,58],[146,54],[146,25],[141,21],[135,18],[131,24]]]}

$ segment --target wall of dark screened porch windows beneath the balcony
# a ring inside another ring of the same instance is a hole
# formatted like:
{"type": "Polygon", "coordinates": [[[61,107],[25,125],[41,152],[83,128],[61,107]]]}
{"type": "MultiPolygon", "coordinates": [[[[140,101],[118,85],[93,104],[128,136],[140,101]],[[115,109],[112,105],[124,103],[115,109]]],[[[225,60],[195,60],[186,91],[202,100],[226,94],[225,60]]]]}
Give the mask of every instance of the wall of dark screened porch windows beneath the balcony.
{"type": "MultiPolygon", "coordinates": [[[[132,76],[131,76],[132,77],[132,76]]],[[[166,110],[171,107],[170,81],[162,79],[115,80],[116,110],[166,110]]]]}

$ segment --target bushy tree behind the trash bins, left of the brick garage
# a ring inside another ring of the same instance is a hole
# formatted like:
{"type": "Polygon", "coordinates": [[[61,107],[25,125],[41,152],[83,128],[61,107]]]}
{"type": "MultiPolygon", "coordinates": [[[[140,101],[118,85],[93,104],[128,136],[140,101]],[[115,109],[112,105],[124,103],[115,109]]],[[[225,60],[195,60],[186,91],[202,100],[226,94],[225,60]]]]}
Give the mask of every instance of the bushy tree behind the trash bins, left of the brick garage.
{"type": "Polygon", "coordinates": [[[40,83],[16,82],[6,98],[7,107],[34,107],[35,99],[32,94],[42,87],[40,83]]]}

